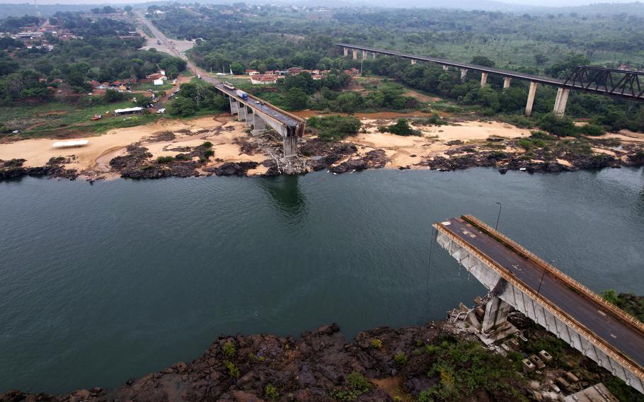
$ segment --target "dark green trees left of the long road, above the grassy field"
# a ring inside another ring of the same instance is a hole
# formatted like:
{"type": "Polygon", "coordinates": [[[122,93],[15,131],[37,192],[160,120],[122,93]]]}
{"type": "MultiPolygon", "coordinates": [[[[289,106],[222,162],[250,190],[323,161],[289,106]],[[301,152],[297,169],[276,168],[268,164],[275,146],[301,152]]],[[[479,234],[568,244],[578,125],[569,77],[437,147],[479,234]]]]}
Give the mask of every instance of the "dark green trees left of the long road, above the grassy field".
{"type": "MultiPolygon", "coordinates": [[[[46,34],[42,42],[52,50],[31,46],[8,36],[0,38],[0,102],[47,101],[49,88],[67,86],[75,93],[91,91],[91,80],[112,82],[142,79],[164,68],[171,77],[185,69],[185,61],[155,50],[139,50],[143,38],[130,35],[135,28],[110,18],[84,18],[79,13],[56,13],[50,24],[69,31],[76,38],[62,40],[46,34]],[[64,84],[62,84],[64,83],[64,84]]],[[[25,24],[38,24],[37,17],[6,18],[0,27],[16,31],[25,24]]],[[[0,30],[3,28],[0,28],[0,30]]]]}

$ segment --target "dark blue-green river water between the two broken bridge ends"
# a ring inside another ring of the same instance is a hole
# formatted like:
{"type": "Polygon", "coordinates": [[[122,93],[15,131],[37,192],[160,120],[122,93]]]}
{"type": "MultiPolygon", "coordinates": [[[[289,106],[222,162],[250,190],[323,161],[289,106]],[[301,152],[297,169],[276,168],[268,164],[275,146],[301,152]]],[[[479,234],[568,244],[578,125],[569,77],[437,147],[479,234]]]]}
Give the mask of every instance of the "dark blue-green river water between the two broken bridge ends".
{"type": "Polygon", "coordinates": [[[113,387],[220,334],[444,318],[485,289],[432,222],[474,214],[601,292],[644,294],[644,171],[491,169],[0,183],[0,392],[113,387]]]}

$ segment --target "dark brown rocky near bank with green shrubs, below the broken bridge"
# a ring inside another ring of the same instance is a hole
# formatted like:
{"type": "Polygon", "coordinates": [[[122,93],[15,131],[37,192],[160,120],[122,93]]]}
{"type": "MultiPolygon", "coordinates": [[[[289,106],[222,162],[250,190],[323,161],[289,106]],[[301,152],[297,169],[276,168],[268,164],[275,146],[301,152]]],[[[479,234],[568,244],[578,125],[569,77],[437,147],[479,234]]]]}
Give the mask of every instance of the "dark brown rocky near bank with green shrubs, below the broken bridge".
{"type": "Polygon", "coordinates": [[[529,318],[514,312],[509,319],[527,339],[514,352],[485,348],[471,330],[451,320],[375,328],[350,343],[331,324],[300,338],[221,336],[193,362],[130,379],[117,389],[59,396],[9,391],[0,401],[546,401],[600,381],[626,400],[638,397],[529,318]],[[555,360],[522,373],[520,360],[541,348],[555,360]],[[553,384],[559,384],[554,380],[561,376],[577,380],[564,381],[565,389],[553,394],[558,389],[553,384]]]}

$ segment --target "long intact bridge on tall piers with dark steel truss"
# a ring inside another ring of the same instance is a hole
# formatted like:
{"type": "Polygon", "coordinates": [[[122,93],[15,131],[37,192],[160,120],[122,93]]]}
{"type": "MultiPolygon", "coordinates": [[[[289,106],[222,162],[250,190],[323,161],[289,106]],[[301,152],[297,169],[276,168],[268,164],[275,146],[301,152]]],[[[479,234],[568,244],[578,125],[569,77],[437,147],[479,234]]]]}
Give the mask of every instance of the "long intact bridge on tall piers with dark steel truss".
{"type": "Polygon", "coordinates": [[[351,45],[349,43],[336,43],[338,47],[343,48],[345,57],[352,52],[353,59],[358,59],[358,52],[362,53],[362,59],[368,59],[371,56],[376,58],[376,54],[387,56],[402,57],[409,59],[411,64],[416,62],[433,62],[441,64],[444,70],[456,68],[461,71],[461,81],[465,81],[468,71],[478,71],[481,73],[481,87],[488,84],[488,74],[498,74],[503,76],[503,89],[510,88],[512,79],[529,81],[528,99],[526,103],[525,114],[532,114],[534,105],[534,96],[538,84],[555,86],[558,88],[557,98],[553,112],[563,116],[565,106],[568,103],[570,90],[585,91],[598,93],[600,95],[614,96],[617,98],[627,99],[629,101],[644,101],[644,72],[626,71],[618,69],[606,69],[594,66],[579,66],[566,79],[556,79],[547,76],[538,76],[526,74],[518,71],[497,69],[495,67],[486,67],[478,64],[452,62],[447,59],[438,57],[425,57],[415,54],[396,52],[394,50],[375,49],[360,45],[351,45]]]}

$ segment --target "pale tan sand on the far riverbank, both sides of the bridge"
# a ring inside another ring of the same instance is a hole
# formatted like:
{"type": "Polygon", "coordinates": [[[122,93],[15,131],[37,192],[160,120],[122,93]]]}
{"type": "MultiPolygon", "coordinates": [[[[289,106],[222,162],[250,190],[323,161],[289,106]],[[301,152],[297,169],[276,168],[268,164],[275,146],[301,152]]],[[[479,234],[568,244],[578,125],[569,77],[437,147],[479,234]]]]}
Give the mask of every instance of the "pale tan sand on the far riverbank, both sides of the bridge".
{"type": "MultiPolygon", "coordinates": [[[[370,114],[367,114],[370,115],[370,114]]],[[[529,137],[530,130],[522,129],[502,122],[465,121],[455,122],[449,125],[413,125],[422,135],[401,137],[390,133],[379,132],[378,127],[391,125],[396,121],[396,116],[383,118],[362,117],[362,130],[355,136],[347,137],[343,144],[355,147],[355,151],[347,152],[347,149],[337,153],[332,144],[318,145],[319,141],[314,134],[307,133],[303,138],[303,151],[308,156],[301,158],[298,173],[303,171],[318,170],[321,168],[333,168],[345,164],[347,171],[360,170],[361,166],[355,164],[357,159],[370,160],[368,167],[362,168],[439,168],[452,170],[452,168],[466,168],[473,166],[496,166],[502,167],[510,159],[517,159],[524,154],[525,150],[518,147],[516,139],[529,137]],[[494,146],[490,146],[488,139],[495,139],[494,146]],[[329,148],[331,146],[331,148],[329,148]],[[369,152],[372,152],[370,156],[369,152]],[[375,152],[375,154],[374,154],[375,152]],[[498,156],[495,152],[506,153],[507,156],[498,156]],[[330,154],[333,154],[329,158],[330,154]],[[324,166],[316,158],[325,158],[328,161],[324,166]],[[373,158],[376,159],[373,159],[373,158]],[[508,159],[498,161],[497,159],[508,159]],[[478,158],[481,161],[464,161],[464,158],[478,158]],[[485,159],[487,158],[487,159],[485,159]],[[331,160],[333,159],[333,160],[331,160]],[[488,159],[493,161],[488,165],[488,159]],[[458,162],[453,165],[452,162],[458,162]],[[461,166],[463,163],[466,165],[461,166]]],[[[118,173],[113,171],[110,161],[117,156],[128,154],[126,147],[133,143],[140,143],[151,157],[140,161],[139,168],[144,168],[150,161],[155,161],[159,156],[177,156],[184,153],[188,148],[195,148],[203,142],[211,142],[212,156],[206,163],[200,163],[195,174],[211,174],[212,168],[224,165],[224,163],[250,162],[258,164],[255,168],[248,170],[248,175],[260,175],[267,173],[270,163],[263,163],[267,160],[275,160],[273,157],[279,153],[281,145],[279,141],[272,142],[274,149],[266,148],[266,142],[256,137],[249,137],[246,125],[237,122],[230,115],[218,115],[215,117],[202,117],[195,120],[163,120],[151,125],[130,127],[112,130],[108,134],[98,137],[88,137],[90,144],[87,147],[76,149],[53,149],[54,139],[27,139],[23,141],[0,144],[0,159],[25,159],[23,167],[44,166],[51,158],[63,156],[71,163],[64,165],[67,169],[75,169],[80,174],[91,174],[95,176],[117,177],[118,173]],[[171,135],[159,135],[170,132],[171,135]],[[252,143],[252,144],[251,144],[252,143]],[[246,147],[243,145],[246,144],[246,147]],[[250,147],[249,147],[250,146],[250,147]],[[243,149],[244,148],[244,149],[243,149]],[[272,156],[273,155],[273,156],[272,156]]],[[[604,134],[598,139],[619,139],[624,147],[633,153],[644,144],[644,134],[634,132],[620,132],[604,134]],[[629,148],[630,147],[630,148],[629,148]]],[[[628,152],[619,152],[618,149],[602,144],[594,144],[594,154],[610,156],[612,161],[603,161],[603,165],[631,163],[628,159],[628,152]]],[[[532,156],[533,161],[522,159],[530,163],[541,163],[544,165],[544,155],[532,156]]],[[[195,156],[193,156],[195,157],[195,156]]],[[[571,156],[572,157],[572,156],[571,156]]],[[[573,157],[573,159],[577,156],[573,157]]],[[[594,166],[594,162],[583,161],[576,163],[565,154],[556,156],[556,166],[551,166],[555,171],[559,168],[575,169],[587,166],[594,166]],[[579,165],[579,166],[577,166],[579,165]]],[[[516,163],[515,163],[516,164],[516,163]]],[[[603,166],[602,165],[602,166],[603,166]]],[[[518,166],[518,165],[517,165],[518,166]]],[[[522,166],[514,166],[521,168],[522,166]]],[[[238,168],[238,166],[234,167],[238,168]]],[[[344,169],[336,169],[343,171],[344,169]]],[[[218,172],[217,174],[219,174],[218,172]]],[[[272,172],[271,174],[275,174],[272,172]]],[[[283,173],[277,166],[277,174],[283,173]]],[[[232,174],[232,173],[231,173],[232,174]]]]}

